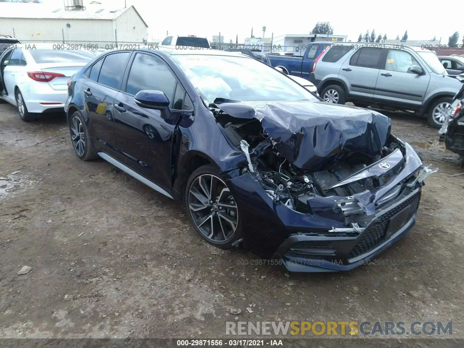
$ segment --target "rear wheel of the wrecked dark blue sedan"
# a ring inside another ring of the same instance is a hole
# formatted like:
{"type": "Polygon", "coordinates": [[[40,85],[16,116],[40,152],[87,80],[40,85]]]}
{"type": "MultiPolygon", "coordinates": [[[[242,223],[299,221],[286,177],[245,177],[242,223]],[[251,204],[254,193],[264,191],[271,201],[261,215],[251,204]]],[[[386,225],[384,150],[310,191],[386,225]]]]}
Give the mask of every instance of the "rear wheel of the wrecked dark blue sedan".
{"type": "Polygon", "coordinates": [[[69,118],[69,131],[77,157],[83,161],[95,160],[98,157],[97,149],[93,146],[87,124],[79,111],[75,111],[69,118]]]}

